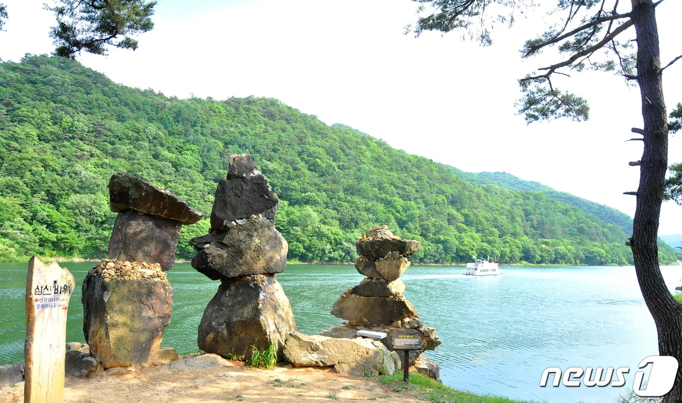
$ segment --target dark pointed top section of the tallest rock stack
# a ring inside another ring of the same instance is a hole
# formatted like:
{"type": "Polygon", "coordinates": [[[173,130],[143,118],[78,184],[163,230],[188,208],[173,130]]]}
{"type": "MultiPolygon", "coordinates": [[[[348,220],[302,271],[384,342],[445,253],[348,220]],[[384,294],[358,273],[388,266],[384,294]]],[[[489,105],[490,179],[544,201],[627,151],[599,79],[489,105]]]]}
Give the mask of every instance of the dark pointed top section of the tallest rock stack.
{"type": "Polygon", "coordinates": [[[279,203],[251,155],[234,154],[230,157],[227,179],[218,181],[211,211],[211,232],[252,215],[273,219],[279,203]]]}

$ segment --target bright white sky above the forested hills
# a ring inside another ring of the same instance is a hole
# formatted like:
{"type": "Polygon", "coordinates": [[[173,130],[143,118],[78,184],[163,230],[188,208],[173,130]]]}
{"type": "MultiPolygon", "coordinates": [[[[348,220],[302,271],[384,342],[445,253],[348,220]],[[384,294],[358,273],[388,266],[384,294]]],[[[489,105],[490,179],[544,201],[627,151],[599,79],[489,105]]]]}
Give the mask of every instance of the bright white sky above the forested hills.
{"type": "MultiPolygon", "coordinates": [[[[0,58],[54,50],[53,15],[44,0],[2,0],[9,20],[0,58]]],[[[135,50],[78,60],[130,87],[178,98],[276,98],[325,123],[344,123],[396,149],[469,172],[504,171],[634,215],[642,143],[639,91],[619,76],[570,73],[560,88],[591,106],[587,122],[527,125],[516,115],[518,78],[563,60],[548,53],[520,59],[525,40],[551,18],[518,15],[496,27],[492,46],[461,33],[404,35],[417,3],[409,0],[159,0],[153,31],[135,50]]],[[[629,2],[623,2],[629,3],[629,2]]],[[[659,5],[662,63],[682,55],[682,2],[659,5]],[[676,43],[677,42],[677,43],[676,43]]],[[[682,60],[666,69],[668,110],[682,102],[682,60]]],[[[682,162],[682,133],[669,161],[682,162]]],[[[682,233],[682,206],[664,203],[660,235],[682,233]]]]}

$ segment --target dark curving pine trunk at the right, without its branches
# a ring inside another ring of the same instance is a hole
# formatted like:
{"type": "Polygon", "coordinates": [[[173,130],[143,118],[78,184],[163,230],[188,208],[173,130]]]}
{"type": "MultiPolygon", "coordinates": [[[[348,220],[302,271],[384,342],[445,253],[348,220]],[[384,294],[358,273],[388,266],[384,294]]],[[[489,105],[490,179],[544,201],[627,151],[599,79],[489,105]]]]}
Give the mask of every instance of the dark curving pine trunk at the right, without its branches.
{"type": "MultiPolygon", "coordinates": [[[[630,246],[644,302],[658,331],[660,355],[682,362],[682,305],[668,291],[656,245],[664,179],[668,167],[668,123],[663,99],[658,29],[652,0],[632,0],[637,33],[637,78],[642,96],[644,153],[630,246]]],[[[642,357],[644,358],[644,357],[642,357]]],[[[664,402],[682,399],[682,367],[664,402]]]]}

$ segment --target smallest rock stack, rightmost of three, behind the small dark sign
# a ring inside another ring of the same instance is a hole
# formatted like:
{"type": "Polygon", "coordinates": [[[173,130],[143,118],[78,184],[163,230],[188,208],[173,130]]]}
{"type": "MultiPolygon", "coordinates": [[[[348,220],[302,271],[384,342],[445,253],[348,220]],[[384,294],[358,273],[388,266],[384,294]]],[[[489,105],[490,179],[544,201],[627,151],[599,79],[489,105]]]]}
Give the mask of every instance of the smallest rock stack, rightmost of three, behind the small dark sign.
{"type": "MultiPolygon", "coordinates": [[[[355,338],[358,330],[379,331],[388,334],[381,341],[389,350],[394,350],[391,333],[418,334],[423,348],[411,350],[410,363],[415,364],[421,353],[441,344],[434,336],[435,329],[424,326],[415,307],[402,295],[405,284],[398,280],[410,266],[407,258],[419,250],[419,242],[400,239],[387,226],[375,226],[355,242],[355,249],[360,254],[355,269],[366,278],[344,291],[331,310],[333,316],[348,322],[333,325],[320,334],[355,338]]],[[[435,372],[428,375],[438,378],[435,372]]]]}

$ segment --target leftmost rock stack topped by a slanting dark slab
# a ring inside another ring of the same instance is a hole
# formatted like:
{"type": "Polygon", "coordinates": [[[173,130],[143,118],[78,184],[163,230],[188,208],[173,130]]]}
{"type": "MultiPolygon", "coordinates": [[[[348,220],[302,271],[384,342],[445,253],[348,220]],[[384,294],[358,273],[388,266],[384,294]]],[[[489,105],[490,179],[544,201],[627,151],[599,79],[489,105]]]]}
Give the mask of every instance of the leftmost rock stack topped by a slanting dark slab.
{"type": "Polygon", "coordinates": [[[165,270],[175,263],[183,224],[203,213],[174,194],[127,173],[109,183],[111,210],[119,213],[109,259],[83,281],[83,332],[90,354],[106,368],[154,361],[170,323],[173,288],[165,270]]]}

